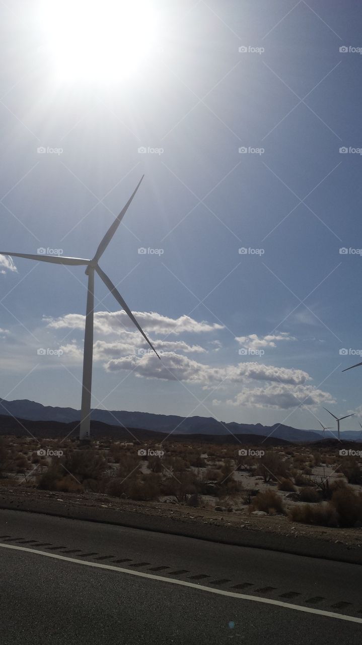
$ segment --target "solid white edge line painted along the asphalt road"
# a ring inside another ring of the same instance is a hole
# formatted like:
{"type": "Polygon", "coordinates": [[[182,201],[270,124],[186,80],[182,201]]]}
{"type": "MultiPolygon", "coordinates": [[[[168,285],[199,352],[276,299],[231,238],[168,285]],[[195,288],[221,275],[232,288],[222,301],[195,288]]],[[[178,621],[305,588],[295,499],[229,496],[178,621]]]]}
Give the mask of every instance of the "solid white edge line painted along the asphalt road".
{"type": "Polygon", "coordinates": [[[136,575],[140,578],[148,578],[150,580],[157,580],[159,582],[169,582],[170,584],[178,584],[182,587],[191,587],[198,591],[207,591],[208,593],[216,593],[220,596],[229,596],[231,598],[240,598],[242,600],[251,600],[252,602],[262,602],[263,604],[276,605],[285,609],[294,609],[296,611],[304,611],[305,613],[315,613],[318,616],[327,616],[327,618],[339,618],[340,620],[348,620],[348,622],[362,623],[362,618],[355,618],[354,616],[345,616],[342,613],[334,613],[334,611],[323,611],[321,609],[313,609],[312,607],[303,607],[301,605],[294,605],[290,602],[281,602],[280,600],[271,600],[269,598],[260,598],[258,596],[249,596],[245,593],[234,593],[234,591],[225,591],[223,589],[214,589],[213,587],[204,587],[202,584],[195,584],[195,582],[185,582],[183,580],[176,580],[175,578],[166,578],[162,575],[153,575],[153,573],[143,573],[143,571],[133,571],[131,569],[123,569],[119,566],[112,564],[100,564],[99,562],[90,562],[87,560],[77,560],[76,558],[68,558],[66,555],[56,555],[55,553],[46,553],[46,551],[37,551],[36,549],[29,549],[26,546],[15,546],[15,544],[3,544],[0,542],[0,547],[4,549],[12,549],[15,551],[26,551],[27,553],[35,553],[36,555],[44,555],[48,558],[55,560],[65,560],[73,562],[73,564],[82,564],[83,566],[91,566],[97,569],[108,569],[110,571],[119,571],[119,573],[128,573],[128,575],[136,575]]]}

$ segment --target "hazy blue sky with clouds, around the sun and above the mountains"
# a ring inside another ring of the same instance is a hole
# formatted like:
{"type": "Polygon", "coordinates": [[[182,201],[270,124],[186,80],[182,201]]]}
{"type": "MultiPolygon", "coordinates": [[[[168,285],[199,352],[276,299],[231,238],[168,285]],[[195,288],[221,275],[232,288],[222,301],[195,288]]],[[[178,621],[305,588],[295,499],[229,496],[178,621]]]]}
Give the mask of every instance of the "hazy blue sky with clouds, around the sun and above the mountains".
{"type": "MultiPolygon", "coordinates": [[[[362,353],[359,7],[148,5],[140,63],[104,81],[59,78],[43,5],[2,3],[1,247],[90,257],[145,174],[100,265],[162,362],[97,280],[93,406],[299,428],[361,412],[362,370],[341,373],[362,353]]],[[[84,270],[15,266],[1,396],[79,408],[84,270]]]]}

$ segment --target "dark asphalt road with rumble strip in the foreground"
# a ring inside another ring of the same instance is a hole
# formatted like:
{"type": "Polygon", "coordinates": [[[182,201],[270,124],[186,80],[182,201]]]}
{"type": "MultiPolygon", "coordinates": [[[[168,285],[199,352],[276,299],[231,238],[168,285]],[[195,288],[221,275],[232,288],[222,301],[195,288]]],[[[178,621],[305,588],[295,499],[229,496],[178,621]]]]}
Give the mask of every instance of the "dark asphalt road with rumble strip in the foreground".
{"type": "Polygon", "coordinates": [[[358,565],[0,510],[3,645],[357,645],[361,590],[358,565]]]}

